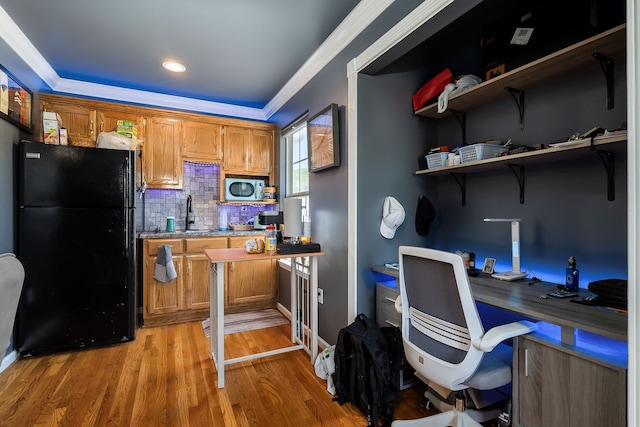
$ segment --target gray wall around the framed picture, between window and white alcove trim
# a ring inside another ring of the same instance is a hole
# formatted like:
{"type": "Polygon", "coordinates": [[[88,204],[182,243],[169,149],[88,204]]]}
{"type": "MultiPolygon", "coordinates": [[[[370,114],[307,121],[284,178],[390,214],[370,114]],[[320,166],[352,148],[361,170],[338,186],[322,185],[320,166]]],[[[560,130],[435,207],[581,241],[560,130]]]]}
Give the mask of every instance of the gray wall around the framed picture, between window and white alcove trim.
{"type": "MultiPolygon", "coordinates": [[[[331,103],[340,106],[340,156],[341,165],[311,174],[311,235],[326,253],[320,257],[318,280],[324,289],[324,304],[319,306],[319,335],[333,344],[338,332],[346,326],[347,283],[347,64],[362,53],[371,43],[406,16],[422,1],[403,0],[394,2],[345,50],[329,63],[311,82],[300,90],[285,106],[270,118],[279,127],[286,126],[305,111],[310,116],[331,103]]],[[[278,156],[276,156],[278,158],[278,156]]],[[[382,205],[376,208],[375,216],[381,215],[382,205]]],[[[378,234],[379,235],[379,234],[378,234]]],[[[280,300],[290,301],[288,276],[281,274],[280,300]]]]}

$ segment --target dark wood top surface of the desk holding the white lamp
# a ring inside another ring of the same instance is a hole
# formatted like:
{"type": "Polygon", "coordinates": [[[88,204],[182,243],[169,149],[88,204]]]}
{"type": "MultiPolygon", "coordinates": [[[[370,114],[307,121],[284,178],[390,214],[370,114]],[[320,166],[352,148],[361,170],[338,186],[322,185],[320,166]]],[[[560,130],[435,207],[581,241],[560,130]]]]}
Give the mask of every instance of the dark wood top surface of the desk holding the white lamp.
{"type": "MultiPolygon", "coordinates": [[[[396,279],[399,277],[398,270],[392,268],[382,266],[373,267],[372,270],[396,279]]],[[[483,273],[478,277],[469,277],[469,283],[473,297],[478,302],[560,326],[563,344],[574,345],[575,329],[619,341],[627,340],[626,313],[570,302],[575,297],[541,298],[556,289],[553,283],[536,282],[530,285],[532,281],[526,279],[505,282],[483,273]]],[[[578,294],[583,297],[590,292],[580,289],[578,294]]]]}

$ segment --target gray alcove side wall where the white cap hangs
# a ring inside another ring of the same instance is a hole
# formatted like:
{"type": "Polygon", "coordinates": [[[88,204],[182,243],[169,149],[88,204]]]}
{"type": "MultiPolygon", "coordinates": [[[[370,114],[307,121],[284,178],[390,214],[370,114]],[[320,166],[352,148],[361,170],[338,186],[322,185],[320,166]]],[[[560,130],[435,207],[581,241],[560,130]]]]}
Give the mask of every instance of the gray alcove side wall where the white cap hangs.
{"type": "Polygon", "coordinates": [[[418,158],[435,145],[437,134],[430,120],[413,115],[411,95],[422,81],[419,72],[358,76],[358,312],[375,318],[374,265],[398,260],[398,246],[435,246],[433,231],[420,236],[415,229],[418,197],[437,206],[433,182],[415,175],[418,158]],[[405,221],[393,239],[380,234],[386,196],[395,197],[405,210],[405,221]]]}

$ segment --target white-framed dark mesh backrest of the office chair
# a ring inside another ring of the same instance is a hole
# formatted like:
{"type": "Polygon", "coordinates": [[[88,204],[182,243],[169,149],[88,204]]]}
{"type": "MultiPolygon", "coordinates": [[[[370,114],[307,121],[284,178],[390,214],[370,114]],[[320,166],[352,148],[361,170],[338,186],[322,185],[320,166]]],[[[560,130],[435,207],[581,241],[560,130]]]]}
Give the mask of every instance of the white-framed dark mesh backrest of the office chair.
{"type": "Polygon", "coordinates": [[[484,329],[462,257],[399,248],[402,338],[408,362],[450,390],[467,388],[484,353],[471,345],[484,329]]]}

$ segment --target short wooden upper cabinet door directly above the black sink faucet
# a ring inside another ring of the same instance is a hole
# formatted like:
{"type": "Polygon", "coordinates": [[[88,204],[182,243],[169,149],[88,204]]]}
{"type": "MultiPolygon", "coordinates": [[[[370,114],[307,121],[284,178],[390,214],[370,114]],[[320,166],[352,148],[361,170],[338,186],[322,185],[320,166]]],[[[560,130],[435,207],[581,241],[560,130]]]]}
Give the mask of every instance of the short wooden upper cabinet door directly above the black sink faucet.
{"type": "Polygon", "coordinates": [[[222,160],[222,127],[218,124],[184,121],[182,157],[191,160],[222,160]]]}

